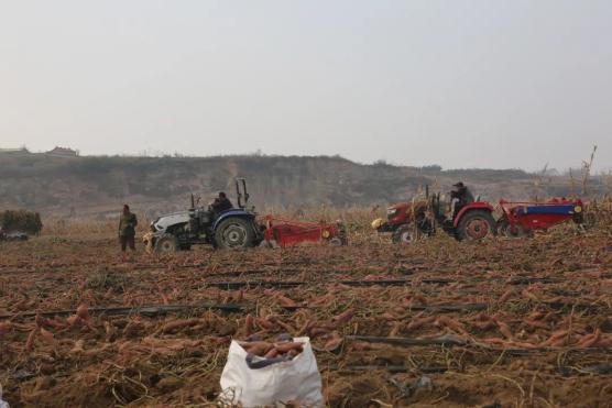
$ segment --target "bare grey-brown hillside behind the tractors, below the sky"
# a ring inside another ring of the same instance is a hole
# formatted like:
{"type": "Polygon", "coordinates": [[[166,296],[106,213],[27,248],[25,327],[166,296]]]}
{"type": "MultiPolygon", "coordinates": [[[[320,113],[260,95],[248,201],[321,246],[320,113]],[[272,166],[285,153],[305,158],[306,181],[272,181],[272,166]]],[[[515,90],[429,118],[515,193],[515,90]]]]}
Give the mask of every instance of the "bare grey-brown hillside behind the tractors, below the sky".
{"type": "Polygon", "coordinates": [[[485,199],[564,195],[567,184],[536,189],[523,170],[441,170],[387,164],[362,165],[341,157],[50,157],[0,156],[0,209],[28,208],[57,216],[114,213],[123,202],[142,211],[183,208],[189,194],[208,200],[247,177],[260,209],[313,208],[321,205],[389,203],[412,197],[423,185],[448,190],[463,180],[485,199]]]}

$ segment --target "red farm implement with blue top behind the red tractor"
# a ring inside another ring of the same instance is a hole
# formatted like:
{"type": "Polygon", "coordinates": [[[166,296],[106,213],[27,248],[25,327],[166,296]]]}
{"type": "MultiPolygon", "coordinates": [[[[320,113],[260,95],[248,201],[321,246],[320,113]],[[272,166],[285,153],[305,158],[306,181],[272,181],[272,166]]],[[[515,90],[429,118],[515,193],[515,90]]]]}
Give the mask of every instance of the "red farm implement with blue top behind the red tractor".
{"type": "Polygon", "coordinates": [[[566,221],[584,224],[584,207],[579,199],[554,198],[549,201],[500,200],[503,212],[498,232],[506,236],[531,235],[535,230],[547,230],[566,221]]]}

